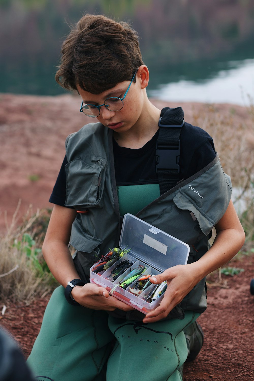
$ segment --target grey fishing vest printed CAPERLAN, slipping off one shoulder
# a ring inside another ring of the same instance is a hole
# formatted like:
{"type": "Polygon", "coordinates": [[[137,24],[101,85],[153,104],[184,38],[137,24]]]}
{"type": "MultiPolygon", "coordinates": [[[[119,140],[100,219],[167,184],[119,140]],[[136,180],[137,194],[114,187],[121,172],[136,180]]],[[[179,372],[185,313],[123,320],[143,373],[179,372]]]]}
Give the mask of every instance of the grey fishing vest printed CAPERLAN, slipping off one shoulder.
{"type": "MultiPolygon", "coordinates": [[[[77,210],[70,245],[78,252],[74,263],[85,282],[89,282],[89,269],[97,259],[119,244],[122,217],[112,138],[112,130],[101,123],[89,123],[70,134],[65,142],[68,161],[65,206],[77,210]]],[[[224,215],[231,194],[230,178],[216,155],[202,170],[162,194],[136,216],[187,243],[188,263],[192,263],[208,250],[208,235],[224,215]]],[[[180,306],[179,311],[204,312],[205,278],[185,296],[180,306]]],[[[182,312],[177,314],[180,317],[182,312]]]]}

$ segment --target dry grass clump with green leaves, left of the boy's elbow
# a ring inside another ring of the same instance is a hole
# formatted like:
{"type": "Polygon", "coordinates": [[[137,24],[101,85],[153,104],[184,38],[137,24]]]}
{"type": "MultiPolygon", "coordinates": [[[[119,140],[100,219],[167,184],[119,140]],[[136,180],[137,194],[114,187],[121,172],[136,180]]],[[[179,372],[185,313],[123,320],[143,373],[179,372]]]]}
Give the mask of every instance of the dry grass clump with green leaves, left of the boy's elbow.
{"type": "Polygon", "coordinates": [[[38,227],[45,211],[38,210],[31,215],[29,209],[22,225],[17,227],[18,208],[7,234],[0,239],[0,300],[3,301],[28,301],[46,295],[57,285],[40,250],[43,233],[38,234],[38,227]],[[28,237],[29,242],[24,237],[28,237]]]}

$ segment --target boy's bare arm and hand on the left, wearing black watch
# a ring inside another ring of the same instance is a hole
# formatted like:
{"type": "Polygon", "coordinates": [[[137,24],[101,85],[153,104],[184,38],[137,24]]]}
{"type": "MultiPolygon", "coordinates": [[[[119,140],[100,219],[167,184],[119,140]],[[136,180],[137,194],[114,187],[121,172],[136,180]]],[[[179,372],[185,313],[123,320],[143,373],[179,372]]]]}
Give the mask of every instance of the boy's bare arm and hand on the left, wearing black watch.
{"type": "MultiPolygon", "coordinates": [[[[50,271],[63,287],[73,279],[80,279],[68,249],[76,213],[74,209],[54,205],[42,246],[43,256],[50,271]]],[[[91,283],[74,287],[72,296],[82,306],[92,309],[107,311],[114,311],[116,308],[123,311],[133,309],[114,296],[109,296],[105,288],[91,283]]]]}

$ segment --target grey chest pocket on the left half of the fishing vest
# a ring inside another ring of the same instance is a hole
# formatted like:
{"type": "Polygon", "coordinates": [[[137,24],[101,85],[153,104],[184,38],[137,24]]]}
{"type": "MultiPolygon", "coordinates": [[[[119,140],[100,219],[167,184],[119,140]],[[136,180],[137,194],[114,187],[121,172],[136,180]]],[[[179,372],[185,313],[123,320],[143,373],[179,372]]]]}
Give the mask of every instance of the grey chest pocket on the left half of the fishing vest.
{"type": "Polygon", "coordinates": [[[103,208],[106,159],[77,158],[65,165],[66,207],[82,210],[86,207],[103,208]]]}

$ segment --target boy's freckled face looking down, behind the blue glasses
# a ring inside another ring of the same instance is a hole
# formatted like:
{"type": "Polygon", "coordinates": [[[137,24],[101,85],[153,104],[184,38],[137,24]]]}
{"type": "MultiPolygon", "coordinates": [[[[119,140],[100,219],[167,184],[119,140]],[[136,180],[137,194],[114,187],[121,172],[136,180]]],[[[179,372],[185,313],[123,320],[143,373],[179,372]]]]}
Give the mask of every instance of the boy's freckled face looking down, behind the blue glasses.
{"type": "MultiPolygon", "coordinates": [[[[137,77],[136,77],[137,78],[137,77]]],[[[100,94],[92,94],[82,90],[77,85],[77,90],[84,104],[93,104],[98,106],[104,104],[105,99],[109,97],[123,98],[130,81],[118,83],[112,89],[103,91],[100,94]]],[[[142,86],[137,78],[137,82],[132,82],[126,97],[123,99],[123,108],[119,111],[110,111],[105,106],[100,107],[100,115],[97,118],[105,127],[119,133],[123,133],[132,128],[142,110],[142,86]]],[[[91,122],[92,122],[91,118],[91,122]]]]}

